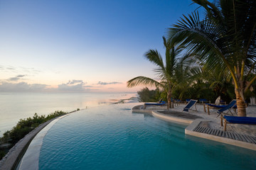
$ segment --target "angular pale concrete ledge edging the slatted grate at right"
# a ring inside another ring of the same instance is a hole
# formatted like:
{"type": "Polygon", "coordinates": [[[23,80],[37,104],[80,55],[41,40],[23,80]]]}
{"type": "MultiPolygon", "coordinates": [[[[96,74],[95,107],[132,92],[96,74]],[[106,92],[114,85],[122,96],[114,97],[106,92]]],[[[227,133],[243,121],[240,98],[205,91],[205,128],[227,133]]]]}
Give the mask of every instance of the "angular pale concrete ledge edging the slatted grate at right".
{"type": "Polygon", "coordinates": [[[213,140],[216,142],[222,142],[228,145],[234,145],[237,147],[243,147],[246,149],[252,149],[252,150],[256,150],[256,145],[252,144],[252,143],[247,143],[247,142],[242,142],[239,140],[232,140],[226,137],[219,137],[219,136],[215,136],[215,135],[208,135],[206,133],[201,133],[201,132],[194,132],[193,130],[201,123],[205,120],[195,120],[193,123],[191,123],[191,125],[188,125],[188,127],[185,129],[185,134],[186,135],[192,135],[192,136],[196,136],[196,137],[201,137],[207,140],[213,140]]]}

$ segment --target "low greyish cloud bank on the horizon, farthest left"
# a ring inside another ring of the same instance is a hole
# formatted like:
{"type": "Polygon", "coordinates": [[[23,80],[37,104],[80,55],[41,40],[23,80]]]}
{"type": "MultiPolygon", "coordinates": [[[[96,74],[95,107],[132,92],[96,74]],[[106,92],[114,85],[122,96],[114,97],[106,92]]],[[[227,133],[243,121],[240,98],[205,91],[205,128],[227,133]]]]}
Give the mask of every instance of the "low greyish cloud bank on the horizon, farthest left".
{"type": "Polygon", "coordinates": [[[0,92],[43,92],[47,86],[46,84],[27,84],[26,82],[18,84],[2,82],[0,84],[0,92]]]}

